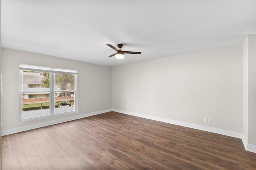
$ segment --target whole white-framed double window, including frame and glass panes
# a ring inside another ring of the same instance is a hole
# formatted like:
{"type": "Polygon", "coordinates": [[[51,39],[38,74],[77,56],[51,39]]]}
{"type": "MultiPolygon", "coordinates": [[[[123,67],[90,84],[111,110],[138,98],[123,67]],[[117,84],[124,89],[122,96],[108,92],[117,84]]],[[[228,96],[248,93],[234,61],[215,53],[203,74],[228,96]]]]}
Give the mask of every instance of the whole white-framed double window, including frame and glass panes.
{"type": "Polygon", "coordinates": [[[77,71],[20,64],[20,120],[77,113],[77,71]]]}

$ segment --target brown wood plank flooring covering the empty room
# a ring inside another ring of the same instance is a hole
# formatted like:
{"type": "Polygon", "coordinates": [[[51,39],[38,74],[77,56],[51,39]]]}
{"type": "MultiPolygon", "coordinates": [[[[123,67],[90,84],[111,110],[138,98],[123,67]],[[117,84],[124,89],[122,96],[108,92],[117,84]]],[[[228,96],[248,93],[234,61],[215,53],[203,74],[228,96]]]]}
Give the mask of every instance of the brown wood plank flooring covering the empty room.
{"type": "Polygon", "coordinates": [[[3,170],[256,169],[241,139],[116,112],[2,137],[3,170]]]}

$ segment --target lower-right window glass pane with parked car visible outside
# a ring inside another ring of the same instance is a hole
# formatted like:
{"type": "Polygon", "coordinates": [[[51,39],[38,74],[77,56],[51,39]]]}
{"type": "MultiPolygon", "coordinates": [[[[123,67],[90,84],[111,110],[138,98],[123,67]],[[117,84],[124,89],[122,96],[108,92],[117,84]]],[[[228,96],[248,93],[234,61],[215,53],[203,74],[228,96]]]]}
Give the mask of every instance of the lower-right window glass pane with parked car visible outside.
{"type": "Polygon", "coordinates": [[[55,93],[55,113],[74,111],[75,92],[55,93]]]}

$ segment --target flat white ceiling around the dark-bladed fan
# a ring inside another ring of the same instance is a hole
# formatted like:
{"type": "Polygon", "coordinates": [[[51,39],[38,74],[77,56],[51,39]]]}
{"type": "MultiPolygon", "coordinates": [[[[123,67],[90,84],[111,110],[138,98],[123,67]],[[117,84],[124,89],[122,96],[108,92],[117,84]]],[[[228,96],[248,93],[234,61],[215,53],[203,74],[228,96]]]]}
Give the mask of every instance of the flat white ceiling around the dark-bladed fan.
{"type": "Polygon", "coordinates": [[[115,66],[242,44],[256,0],[2,0],[2,47],[115,66]],[[108,57],[123,51],[124,61],[108,57]]]}

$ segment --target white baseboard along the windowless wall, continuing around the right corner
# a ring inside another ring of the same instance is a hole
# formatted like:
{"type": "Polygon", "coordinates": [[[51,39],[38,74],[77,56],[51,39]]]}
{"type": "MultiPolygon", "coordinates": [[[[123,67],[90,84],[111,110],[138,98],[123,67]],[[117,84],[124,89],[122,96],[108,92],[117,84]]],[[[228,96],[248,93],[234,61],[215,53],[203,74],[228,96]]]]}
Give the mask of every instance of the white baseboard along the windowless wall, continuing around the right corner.
{"type": "Polygon", "coordinates": [[[193,128],[193,129],[202,130],[202,131],[208,131],[208,132],[217,133],[217,134],[220,134],[220,135],[226,135],[226,136],[230,136],[230,137],[239,138],[239,139],[242,139],[245,150],[247,150],[249,152],[256,153],[256,146],[248,144],[248,141],[245,139],[245,137],[242,133],[227,131],[227,130],[218,129],[218,128],[214,128],[214,127],[196,125],[196,124],[186,123],[186,122],[182,122],[182,121],[176,121],[176,120],[172,120],[172,119],[165,119],[165,118],[161,118],[161,117],[144,115],[144,114],[140,114],[140,113],[134,113],[134,112],[124,111],[124,110],[119,110],[119,109],[112,109],[112,111],[116,111],[118,113],[124,113],[124,114],[127,114],[127,115],[142,117],[142,118],[146,118],[146,119],[161,121],[161,122],[164,122],[164,123],[180,125],[180,126],[184,126],[184,127],[189,127],[189,128],[193,128]]]}

